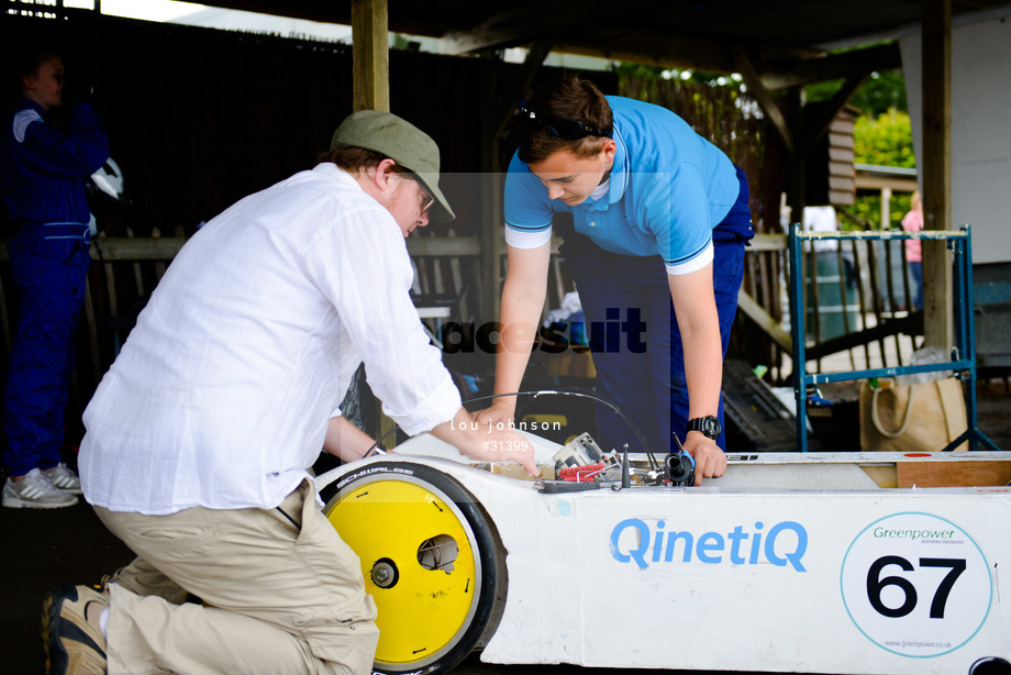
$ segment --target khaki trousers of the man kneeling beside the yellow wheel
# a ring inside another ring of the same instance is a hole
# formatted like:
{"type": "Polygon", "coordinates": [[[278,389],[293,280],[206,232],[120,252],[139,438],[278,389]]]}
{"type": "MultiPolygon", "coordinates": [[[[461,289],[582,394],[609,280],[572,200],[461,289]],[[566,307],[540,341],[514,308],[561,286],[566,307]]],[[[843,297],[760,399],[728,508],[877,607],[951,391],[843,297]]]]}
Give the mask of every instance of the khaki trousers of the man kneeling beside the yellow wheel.
{"type": "Polygon", "coordinates": [[[109,586],[110,675],[370,673],[379,630],[358,556],[308,480],[280,509],[298,527],[277,509],[96,507],[138,556],[109,586]]]}

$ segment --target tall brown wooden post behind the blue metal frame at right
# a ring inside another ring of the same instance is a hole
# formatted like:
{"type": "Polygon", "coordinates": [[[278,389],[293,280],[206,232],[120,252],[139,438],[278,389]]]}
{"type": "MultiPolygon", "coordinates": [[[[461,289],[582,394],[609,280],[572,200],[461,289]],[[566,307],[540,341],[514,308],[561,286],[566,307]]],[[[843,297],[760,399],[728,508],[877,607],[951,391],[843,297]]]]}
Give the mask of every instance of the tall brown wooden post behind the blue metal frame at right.
{"type": "MultiPolygon", "coordinates": [[[[923,228],[952,228],[952,0],[923,2],[923,228]]],[[[951,256],[923,242],[923,336],[945,352],[954,340],[951,256]]]]}

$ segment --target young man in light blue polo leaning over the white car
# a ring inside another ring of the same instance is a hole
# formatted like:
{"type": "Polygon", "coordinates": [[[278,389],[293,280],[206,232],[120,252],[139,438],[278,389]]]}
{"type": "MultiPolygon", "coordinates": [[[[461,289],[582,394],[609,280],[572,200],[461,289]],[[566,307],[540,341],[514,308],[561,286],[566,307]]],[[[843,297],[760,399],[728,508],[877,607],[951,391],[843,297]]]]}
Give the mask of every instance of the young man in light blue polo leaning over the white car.
{"type": "MultiPolygon", "coordinates": [[[[505,178],[495,392],[520,389],[554,213],[571,213],[573,225],[555,228],[590,327],[598,394],[635,422],[649,451],[684,445],[697,484],[723,475],[723,356],[754,236],[747,197],[744,173],[674,112],[604,97],[576,76],[536,91],[520,110],[520,147],[505,178]]],[[[514,414],[515,397],[502,397],[475,417],[514,414]]],[[[598,423],[603,450],[642,451],[601,407],[598,423]]]]}

